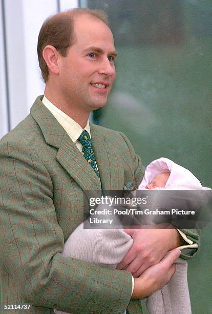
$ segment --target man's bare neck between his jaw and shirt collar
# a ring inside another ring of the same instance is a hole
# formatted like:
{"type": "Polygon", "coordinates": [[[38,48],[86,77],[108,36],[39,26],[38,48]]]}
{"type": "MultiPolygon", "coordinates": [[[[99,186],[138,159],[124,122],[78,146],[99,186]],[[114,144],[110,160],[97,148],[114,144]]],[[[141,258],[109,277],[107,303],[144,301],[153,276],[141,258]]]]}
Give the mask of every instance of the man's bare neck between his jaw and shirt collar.
{"type": "Polygon", "coordinates": [[[66,101],[58,97],[54,93],[49,93],[47,89],[44,91],[47,99],[61,111],[65,112],[70,116],[74,121],[76,121],[82,128],[86,127],[90,112],[84,112],[80,110],[81,108],[77,106],[71,106],[66,101]]]}

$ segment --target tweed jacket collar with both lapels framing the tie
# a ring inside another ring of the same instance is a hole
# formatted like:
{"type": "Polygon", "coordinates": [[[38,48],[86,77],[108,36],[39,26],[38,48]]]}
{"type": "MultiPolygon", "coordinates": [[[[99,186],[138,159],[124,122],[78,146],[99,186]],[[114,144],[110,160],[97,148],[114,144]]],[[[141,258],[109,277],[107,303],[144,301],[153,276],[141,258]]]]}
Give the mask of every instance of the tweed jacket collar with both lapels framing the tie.
{"type": "Polygon", "coordinates": [[[30,113],[43,132],[45,142],[58,149],[56,160],[83,190],[122,189],[121,160],[116,149],[105,136],[104,128],[90,124],[92,145],[101,181],[84,159],[67,132],[41,102],[43,95],[35,100],[30,113]]]}

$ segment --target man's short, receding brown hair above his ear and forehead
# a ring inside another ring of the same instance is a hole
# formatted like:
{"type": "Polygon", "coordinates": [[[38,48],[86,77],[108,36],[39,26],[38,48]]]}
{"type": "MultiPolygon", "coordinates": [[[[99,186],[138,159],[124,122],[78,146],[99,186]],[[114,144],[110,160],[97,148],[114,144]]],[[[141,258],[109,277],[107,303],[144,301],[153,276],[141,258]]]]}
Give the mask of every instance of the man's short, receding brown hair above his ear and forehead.
{"type": "Polygon", "coordinates": [[[65,57],[68,48],[76,42],[74,17],[79,14],[92,15],[99,18],[106,25],[109,25],[108,17],[105,12],[86,8],[72,9],[48,17],[40,29],[37,42],[38,61],[44,82],[47,82],[49,77],[49,69],[43,58],[44,48],[47,45],[54,46],[57,51],[65,57]]]}

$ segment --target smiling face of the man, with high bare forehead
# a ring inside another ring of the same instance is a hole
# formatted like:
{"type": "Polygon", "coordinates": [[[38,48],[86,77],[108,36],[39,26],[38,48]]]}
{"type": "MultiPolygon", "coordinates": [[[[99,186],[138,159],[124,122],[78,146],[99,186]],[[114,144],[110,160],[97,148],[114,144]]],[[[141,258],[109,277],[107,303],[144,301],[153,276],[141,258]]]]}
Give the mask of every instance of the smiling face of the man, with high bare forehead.
{"type": "Polygon", "coordinates": [[[91,111],[107,102],[115,78],[113,35],[97,18],[75,18],[76,43],[59,58],[59,89],[70,106],[91,111]]]}

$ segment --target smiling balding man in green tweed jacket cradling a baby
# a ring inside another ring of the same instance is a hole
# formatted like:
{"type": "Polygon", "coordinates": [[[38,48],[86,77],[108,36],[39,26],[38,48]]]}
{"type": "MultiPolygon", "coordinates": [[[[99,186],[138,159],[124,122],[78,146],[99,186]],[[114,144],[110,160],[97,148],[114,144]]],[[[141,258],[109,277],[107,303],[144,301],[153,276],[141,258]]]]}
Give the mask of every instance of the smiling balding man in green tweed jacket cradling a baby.
{"type": "MultiPolygon", "coordinates": [[[[119,268],[129,265],[129,271],[61,256],[83,220],[84,190],[136,188],[143,175],[124,134],[88,122],[90,112],[107,102],[116,54],[99,11],[59,13],[40,30],[45,96],[0,144],[2,312],[8,304],[30,304],[36,313],[123,313],[126,307],[141,313],[133,299],[150,295],[175,271],[178,249],[160,262],[182,244],[175,229],[126,230],[134,245],[119,268]],[[130,271],[143,273],[134,282],[130,271]]],[[[195,232],[186,233],[198,242],[195,232]]]]}

